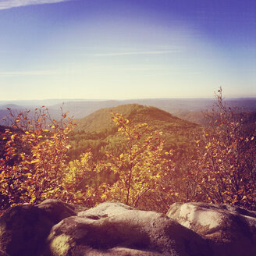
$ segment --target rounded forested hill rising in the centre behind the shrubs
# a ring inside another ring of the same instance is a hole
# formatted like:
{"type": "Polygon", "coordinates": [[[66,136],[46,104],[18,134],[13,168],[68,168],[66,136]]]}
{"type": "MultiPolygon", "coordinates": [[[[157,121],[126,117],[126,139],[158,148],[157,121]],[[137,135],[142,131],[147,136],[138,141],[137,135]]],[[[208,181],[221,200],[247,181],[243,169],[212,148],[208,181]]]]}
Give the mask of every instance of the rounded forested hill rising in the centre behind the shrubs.
{"type": "Polygon", "coordinates": [[[198,126],[155,107],[137,104],[119,105],[114,108],[102,108],[91,115],[76,120],[76,128],[70,137],[72,149],[70,158],[78,158],[81,153],[91,149],[97,158],[105,151],[119,154],[122,151],[122,138],[112,121],[112,114],[123,114],[130,123],[148,123],[153,130],[161,131],[165,140],[165,149],[176,149],[183,154],[189,149],[189,138],[198,126]]]}

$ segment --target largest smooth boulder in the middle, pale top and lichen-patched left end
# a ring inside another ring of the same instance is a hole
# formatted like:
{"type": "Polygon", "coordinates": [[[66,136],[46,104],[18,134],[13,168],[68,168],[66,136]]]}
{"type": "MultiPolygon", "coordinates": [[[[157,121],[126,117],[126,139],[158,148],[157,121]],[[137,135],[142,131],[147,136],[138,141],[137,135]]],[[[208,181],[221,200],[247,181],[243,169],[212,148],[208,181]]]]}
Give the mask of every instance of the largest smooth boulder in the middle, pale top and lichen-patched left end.
{"type": "Polygon", "coordinates": [[[106,202],[52,227],[44,255],[211,255],[201,236],[166,215],[106,202]]]}

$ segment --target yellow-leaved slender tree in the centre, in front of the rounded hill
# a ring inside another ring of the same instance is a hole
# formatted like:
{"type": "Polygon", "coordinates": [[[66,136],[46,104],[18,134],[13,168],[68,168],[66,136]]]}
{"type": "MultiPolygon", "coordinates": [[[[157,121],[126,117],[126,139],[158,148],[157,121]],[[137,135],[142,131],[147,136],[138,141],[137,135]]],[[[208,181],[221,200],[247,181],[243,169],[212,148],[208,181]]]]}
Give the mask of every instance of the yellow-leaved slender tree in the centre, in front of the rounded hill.
{"type": "Polygon", "coordinates": [[[126,151],[118,156],[108,152],[107,160],[101,163],[101,169],[117,176],[115,183],[101,186],[105,190],[102,197],[137,207],[146,194],[158,190],[162,176],[167,173],[162,134],[152,131],[147,123],[132,125],[119,114],[113,114],[112,119],[125,138],[126,151]]]}

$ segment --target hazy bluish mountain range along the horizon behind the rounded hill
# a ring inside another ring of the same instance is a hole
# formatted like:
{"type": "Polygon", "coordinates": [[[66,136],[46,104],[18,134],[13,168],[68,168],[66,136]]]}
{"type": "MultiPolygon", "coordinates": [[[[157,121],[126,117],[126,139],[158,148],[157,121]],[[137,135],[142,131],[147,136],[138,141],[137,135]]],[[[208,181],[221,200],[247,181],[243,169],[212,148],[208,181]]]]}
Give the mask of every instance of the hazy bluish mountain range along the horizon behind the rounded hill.
{"type": "MultiPolygon", "coordinates": [[[[243,108],[244,111],[256,111],[256,98],[230,98],[226,99],[228,107],[243,108]]],[[[194,123],[201,123],[201,111],[211,110],[215,104],[214,99],[208,98],[162,98],[162,99],[132,99],[125,101],[99,101],[82,99],[49,99],[40,101],[0,101],[0,119],[4,118],[11,108],[13,111],[34,109],[42,105],[49,108],[53,118],[60,116],[60,108],[69,111],[74,119],[84,118],[101,108],[113,108],[118,105],[140,104],[160,108],[181,119],[187,119],[194,123]],[[64,104],[62,104],[64,103],[64,104]]]]}

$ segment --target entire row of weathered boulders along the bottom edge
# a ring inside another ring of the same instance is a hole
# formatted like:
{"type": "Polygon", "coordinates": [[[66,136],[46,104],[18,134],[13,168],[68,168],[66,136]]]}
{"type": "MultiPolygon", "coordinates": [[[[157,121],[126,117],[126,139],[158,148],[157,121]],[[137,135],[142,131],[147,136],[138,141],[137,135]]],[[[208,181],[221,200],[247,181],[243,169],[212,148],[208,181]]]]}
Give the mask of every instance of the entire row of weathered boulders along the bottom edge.
{"type": "Polygon", "coordinates": [[[0,256],[256,255],[256,212],[172,204],[167,215],[119,202],[87,209],[47,200],[0,217],[0,256]]]}

